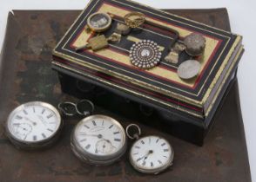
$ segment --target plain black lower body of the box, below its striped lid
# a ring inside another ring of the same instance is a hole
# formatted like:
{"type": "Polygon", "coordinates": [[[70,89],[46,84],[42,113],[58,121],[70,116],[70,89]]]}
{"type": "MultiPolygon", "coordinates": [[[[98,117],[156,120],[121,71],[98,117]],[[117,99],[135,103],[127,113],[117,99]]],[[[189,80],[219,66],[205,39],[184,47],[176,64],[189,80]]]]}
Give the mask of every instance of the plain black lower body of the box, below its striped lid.
{"type": "Polygon", "coordinates": [[[213,117],[215,111],[219,113],[218,110],[222,107],[226,95],[236,81],[236,71],[230,76],[230,81],[220,94],[219,100],[216,101],[215,108],[212,109],[207,118],[200,120],[201,123],[211,123],[210,126],[194,125],[191,122],[191,118],[153,108],[146,103],[143,104],[133,98],[127,98],[127,95],[97,86],[90,80],[84,80],[84,77],[81,77],[81,80],[79,80],[76,78],[77,75],[70,76],[70,74],[67,75],[62,72],[58,72],[58,77],[62,91],[65,94],[71,94],[78,99],[91,100],[98,107],[104,107],[129,120],[139,121],[147,126],[158,128],[165,133],[170,133],[182,140],[202,146],[206,133],[211,129],[212,123],[215,122],[213,117]]]}

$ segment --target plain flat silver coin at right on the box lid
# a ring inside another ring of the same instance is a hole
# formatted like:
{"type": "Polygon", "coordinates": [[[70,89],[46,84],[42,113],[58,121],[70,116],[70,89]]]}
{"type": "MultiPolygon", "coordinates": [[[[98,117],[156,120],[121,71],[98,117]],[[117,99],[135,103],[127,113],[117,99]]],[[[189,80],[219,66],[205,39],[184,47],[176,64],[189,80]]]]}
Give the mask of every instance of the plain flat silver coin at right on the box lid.
{"type": "Polygon", "coordinates": [[[192,79],[199,74],[201,65],[196,60],[187,60],[179,65],[177,73],[181,79],[192,79]]]}

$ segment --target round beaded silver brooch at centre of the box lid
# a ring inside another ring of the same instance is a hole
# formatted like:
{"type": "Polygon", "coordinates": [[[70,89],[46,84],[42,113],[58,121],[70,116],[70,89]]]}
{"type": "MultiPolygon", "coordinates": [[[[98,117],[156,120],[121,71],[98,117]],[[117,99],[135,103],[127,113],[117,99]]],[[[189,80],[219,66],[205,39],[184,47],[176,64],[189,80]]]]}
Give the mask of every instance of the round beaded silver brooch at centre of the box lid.
{"type": "Polygon", "coordinates": [[[143,40],[131,46],[130,61],[138,68],[149,69],[160,62],[161,55],[156,42],[143,40]]]}

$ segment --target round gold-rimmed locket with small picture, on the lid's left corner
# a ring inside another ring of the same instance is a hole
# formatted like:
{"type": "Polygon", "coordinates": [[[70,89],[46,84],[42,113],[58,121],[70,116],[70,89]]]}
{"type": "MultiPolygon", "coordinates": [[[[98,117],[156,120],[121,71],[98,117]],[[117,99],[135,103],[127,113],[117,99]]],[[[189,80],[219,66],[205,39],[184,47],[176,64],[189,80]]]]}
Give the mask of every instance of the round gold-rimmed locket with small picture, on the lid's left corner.
{"type": "Polygon", "coordinates": [[[87,19],[87,26],[95,32],[103,32],[111,27],[112,18],[109,14],[96,12],[87,19]]]}

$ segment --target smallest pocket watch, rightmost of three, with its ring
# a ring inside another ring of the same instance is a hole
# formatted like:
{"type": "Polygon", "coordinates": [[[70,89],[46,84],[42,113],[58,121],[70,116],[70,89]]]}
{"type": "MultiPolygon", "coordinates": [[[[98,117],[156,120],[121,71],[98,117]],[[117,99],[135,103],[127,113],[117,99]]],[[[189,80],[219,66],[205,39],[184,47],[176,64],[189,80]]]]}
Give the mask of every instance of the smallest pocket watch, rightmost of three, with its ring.
{"type": "Polygon", "coordinates": [[[129,159],[138,172],[158,174],[172,166],[174,152],[167,140],[156,135],[139,138],[141,130],[136,124],[126,127],[126,134],[130,139],[136,139],[131,146],[129,159]],[[131,127],[137,128],[138,133],[131,135],[131,127]]]}

